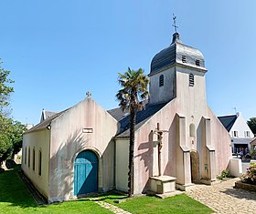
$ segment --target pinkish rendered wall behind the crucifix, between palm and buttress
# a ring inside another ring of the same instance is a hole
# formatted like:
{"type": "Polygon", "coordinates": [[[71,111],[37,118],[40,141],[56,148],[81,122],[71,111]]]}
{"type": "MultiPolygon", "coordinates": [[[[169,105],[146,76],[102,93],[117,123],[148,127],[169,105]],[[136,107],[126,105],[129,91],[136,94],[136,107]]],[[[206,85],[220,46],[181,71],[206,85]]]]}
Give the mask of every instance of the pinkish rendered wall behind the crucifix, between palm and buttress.
{"type": "Polygon", "coordinates": [[[153,141],[157,140],[155,131],[157,123],[160,129],[167,130],[163,136],[162,172],[164,175],[176,176],[176,99],[172,100],[143,127],[135,133],[134,145],[134,194],[139,194],[147,189],[150,176],[158,175],[157,147],[153,141]]]}

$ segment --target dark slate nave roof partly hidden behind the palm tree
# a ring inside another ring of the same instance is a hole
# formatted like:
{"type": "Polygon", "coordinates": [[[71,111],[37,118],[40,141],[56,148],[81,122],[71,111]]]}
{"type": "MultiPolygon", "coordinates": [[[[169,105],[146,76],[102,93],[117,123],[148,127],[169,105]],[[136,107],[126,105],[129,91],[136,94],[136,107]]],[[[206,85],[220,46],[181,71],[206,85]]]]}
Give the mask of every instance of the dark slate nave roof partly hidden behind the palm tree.
{"type": "MultiPolygon", "coordinates": [[[[142,127],[150,117],[153,117],[155,113],[159,111],[162,107],[165,107],[165,105],[166,103],[155,104],[155,105],[146,104],[145,108],[141,111],[138,111],[136,114],[135,130],[137,130],[139,127],[142,127]]],[[[127,111],[123,112],[120,107],[108,110],[108,113],[112,117],[114,117],[121,125],[120,131],[117,134],[116,138],[129,138],[129,135],[130,135],[129,113],[127,111]]]]}

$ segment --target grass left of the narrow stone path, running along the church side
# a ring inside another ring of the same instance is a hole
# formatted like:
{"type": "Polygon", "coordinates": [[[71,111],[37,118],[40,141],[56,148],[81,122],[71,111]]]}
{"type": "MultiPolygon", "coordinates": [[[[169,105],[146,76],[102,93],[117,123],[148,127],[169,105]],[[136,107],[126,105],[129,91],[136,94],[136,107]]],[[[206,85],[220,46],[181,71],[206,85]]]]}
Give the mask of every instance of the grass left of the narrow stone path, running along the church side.
{"type": "Polygon", "coordinates": [[[38,206],[19,178],[19,168],[0,174],[0,213],[112,213],[89,199],[38,206]]]}

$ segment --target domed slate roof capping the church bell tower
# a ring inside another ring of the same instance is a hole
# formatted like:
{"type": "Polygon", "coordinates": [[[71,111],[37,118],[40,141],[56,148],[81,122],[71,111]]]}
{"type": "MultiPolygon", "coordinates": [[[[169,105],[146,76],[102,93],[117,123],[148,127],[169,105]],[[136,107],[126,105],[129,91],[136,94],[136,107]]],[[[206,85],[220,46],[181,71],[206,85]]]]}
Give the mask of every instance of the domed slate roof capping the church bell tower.
{"type": "Polygon", "coordinates": [[[149,76],[152,76],[169,66],[173,66],[176,63],[185,66],[200,67],[207,72],[205,68],[205,59],[202,53],[192,46],[183,44],[179,39],[178,33],[173,35],[173,42],[170,46],[154,56],[151,62],[149,76]],[[196,60],[198,60],[199,66],[196,65],[196,60]]]}

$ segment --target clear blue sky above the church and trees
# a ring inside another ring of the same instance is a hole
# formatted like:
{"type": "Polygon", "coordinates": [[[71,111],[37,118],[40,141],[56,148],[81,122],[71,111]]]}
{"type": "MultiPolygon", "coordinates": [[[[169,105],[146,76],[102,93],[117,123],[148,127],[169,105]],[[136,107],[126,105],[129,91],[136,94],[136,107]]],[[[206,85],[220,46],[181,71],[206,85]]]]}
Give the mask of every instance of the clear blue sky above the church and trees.
{"type": "Polygon", "coordinates": [[[0,58],[15,80],[11,117],[36,125],[91,97],[118,107],[118,73],[150,72],[169,46],[172,16],[184,44],[205,56],[208,106],[256,117],[255,0],[0,0],[0,58]]]}

